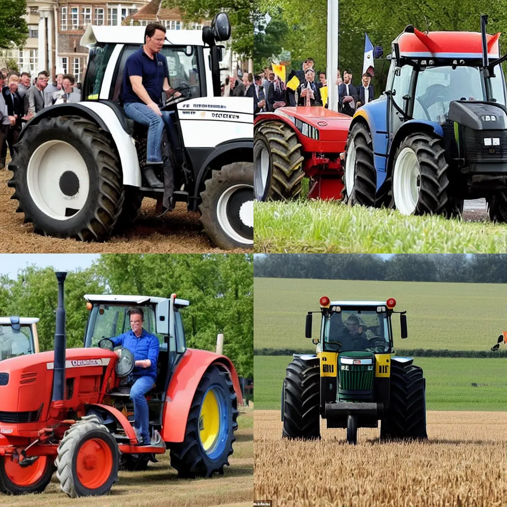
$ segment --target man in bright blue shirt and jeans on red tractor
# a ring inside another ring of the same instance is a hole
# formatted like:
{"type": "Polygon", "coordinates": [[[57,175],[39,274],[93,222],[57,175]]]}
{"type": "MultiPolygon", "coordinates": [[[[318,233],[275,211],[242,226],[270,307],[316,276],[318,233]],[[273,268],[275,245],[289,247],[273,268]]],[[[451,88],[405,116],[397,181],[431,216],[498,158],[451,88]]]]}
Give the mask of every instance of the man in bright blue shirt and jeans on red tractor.
{"type": "MultiPolygon", "coordinates": [[[[131,377],[134,381],[130,388],[130,399],[134,404],[134,430],[138,445],[152,445],[149,433],[148,402],[144,395],[153,388],[157,380],[157,360],[160,344],[155,335],[143,329],[144,312],[141,308],[131,308],[128,311],[130,316],[130,331],[115,338],[110,338],[117,347],[121,345],[128,349],[134,357],[134,369],[131,377]]],[[[117,350],[118,357],[121,350],[117,350]]]]}

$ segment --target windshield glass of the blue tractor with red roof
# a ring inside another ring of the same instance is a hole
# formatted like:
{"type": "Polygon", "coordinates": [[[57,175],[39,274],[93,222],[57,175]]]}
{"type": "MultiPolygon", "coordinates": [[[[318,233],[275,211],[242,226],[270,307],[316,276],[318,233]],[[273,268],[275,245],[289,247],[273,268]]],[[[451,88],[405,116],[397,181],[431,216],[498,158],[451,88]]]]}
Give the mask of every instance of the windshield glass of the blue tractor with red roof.
{"type": "MultiPolygon", "coordinates": [[[[503,75],[495,68],[491,78],[493,97],[505,105],[503,75]]],[[[486,100],[486,90],[478,67],[427,67],[417,75],[413,118],[443,124],[452,100],[486,100]]]]}

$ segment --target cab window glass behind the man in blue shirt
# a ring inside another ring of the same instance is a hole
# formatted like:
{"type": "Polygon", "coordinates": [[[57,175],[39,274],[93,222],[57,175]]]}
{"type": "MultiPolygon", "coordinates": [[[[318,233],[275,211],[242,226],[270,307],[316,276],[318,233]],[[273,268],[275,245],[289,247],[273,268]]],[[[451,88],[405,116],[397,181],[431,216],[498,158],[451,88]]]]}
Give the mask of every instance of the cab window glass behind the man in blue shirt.
{"type": "MultiPolygon", "coordinates": [[[[127,312],[131,307],[132,305],[94,305],[88,317],[85,347],[97,347],[102,338],[113,338],[130,331],[127,312]]],[[[164,337],[155,332],[155,309],[153,306],[143,306],[142,310],[144,311],[142,327],[164,344],[164,337]]]]}

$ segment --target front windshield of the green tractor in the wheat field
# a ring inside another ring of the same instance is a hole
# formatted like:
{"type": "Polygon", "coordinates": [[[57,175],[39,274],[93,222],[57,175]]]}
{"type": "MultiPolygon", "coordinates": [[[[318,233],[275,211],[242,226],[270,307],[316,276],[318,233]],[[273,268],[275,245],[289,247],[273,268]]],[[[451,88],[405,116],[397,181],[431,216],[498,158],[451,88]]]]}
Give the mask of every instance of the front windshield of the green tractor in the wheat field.
{"type": "Polygon", "coordinates": [[[322,316],[321,338],[324,350],[391,351],[390,320],[385,312],[352,310],[322,316]]]}

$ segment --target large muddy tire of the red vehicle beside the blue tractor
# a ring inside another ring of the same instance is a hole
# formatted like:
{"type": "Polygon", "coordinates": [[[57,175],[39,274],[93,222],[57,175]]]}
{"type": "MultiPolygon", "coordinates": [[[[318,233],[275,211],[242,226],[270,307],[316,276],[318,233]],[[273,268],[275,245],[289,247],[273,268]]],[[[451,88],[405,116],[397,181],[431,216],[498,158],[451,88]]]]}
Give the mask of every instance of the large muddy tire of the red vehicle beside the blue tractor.
{"type": "Polygon", "coordinates": [[[297,199],[301,194],[303,172],[302,146],[296,132],[283,122],[269,121],[256,129],[253,139],[253,157],[256,166],[256,180],[262,160],[268,156],[265,192],[256,192],[258,201],[279,201],[297,199]],[[256,149],[257,147],[257,149],[256,149]]]}

